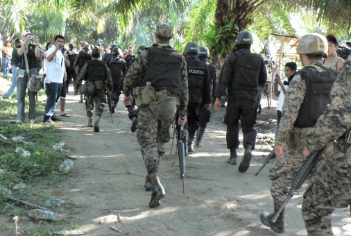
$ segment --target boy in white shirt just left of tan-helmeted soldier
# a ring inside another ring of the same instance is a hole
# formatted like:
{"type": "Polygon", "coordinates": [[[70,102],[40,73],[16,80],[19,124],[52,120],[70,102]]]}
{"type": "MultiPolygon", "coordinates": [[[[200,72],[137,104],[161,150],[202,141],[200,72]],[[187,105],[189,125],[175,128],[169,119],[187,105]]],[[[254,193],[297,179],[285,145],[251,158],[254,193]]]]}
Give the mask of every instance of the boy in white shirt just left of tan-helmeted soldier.
{"type": "Polygon", "coordinates": [[[286,90],[288,89],[288,85],[291,79],[293,78],[293,75],[296,73],[296,69],[297,69],[297,65],[295,62],[287,62],[285,64],[286,79],[284,81],[281,81],[280,76],[278,74],[275,75],[274,94],[275,96],[279,96],[278,106],[277,106],[277,124],[275,126],[275,137],[277,137],[280,119],[282,118],[282,108],[283,108],[286,90]]]}

